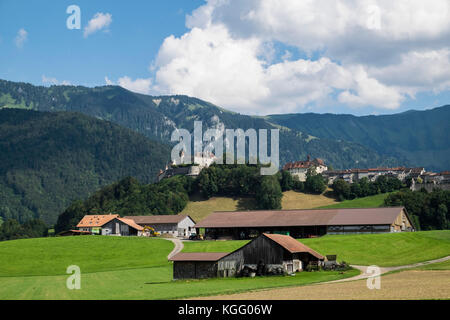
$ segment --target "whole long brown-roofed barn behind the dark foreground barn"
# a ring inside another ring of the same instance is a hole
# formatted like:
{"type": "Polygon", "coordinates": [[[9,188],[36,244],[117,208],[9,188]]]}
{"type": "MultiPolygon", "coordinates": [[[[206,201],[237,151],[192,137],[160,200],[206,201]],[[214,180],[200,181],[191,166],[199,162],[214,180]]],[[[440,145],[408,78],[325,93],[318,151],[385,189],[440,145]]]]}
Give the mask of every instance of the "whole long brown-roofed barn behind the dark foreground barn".
{"type": "Polygon", "coordinates": [[[248,239],[261,233],[295,238],[325,234],[414,231],[403,207],[213,212],[195,225],[206,238],[248,239]]]}

